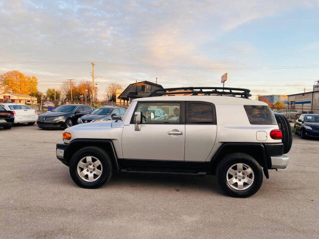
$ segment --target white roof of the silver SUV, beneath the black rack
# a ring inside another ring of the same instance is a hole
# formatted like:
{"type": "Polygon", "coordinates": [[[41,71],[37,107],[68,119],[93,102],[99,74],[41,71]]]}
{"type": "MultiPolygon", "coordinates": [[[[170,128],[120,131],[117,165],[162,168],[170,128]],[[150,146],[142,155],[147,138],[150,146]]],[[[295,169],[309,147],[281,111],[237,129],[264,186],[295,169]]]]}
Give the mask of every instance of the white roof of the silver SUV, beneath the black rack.
{"type": "Polygon", "coordinates": [[[267,103],[232,96],[157,96],[139,98],[133,101],[204,101],[214,105],[253,105],[267,106],[267,103]]]}

